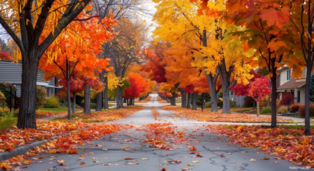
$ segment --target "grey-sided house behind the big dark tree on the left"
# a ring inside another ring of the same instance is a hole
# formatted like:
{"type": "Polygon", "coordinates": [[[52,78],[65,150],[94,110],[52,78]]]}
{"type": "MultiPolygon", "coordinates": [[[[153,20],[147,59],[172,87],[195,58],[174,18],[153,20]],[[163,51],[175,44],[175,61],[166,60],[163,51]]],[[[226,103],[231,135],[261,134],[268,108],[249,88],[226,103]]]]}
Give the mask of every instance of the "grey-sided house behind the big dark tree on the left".
{"type": "MultiPolygon", "coordinates": [[[[6,82],[16,87],[16,96],[21,96],[21,84],[22,84],[22,64],[21,62],[13,61],[0,61],[0,82],[6,82]]],[[[49,81],[44,80],[44,72],[38,70],[37,72],[37,86],[43,86],[46,88],[47,97],[56,94],[56,89],[59,87],[55,86],[56,79],[49,81]]]]}

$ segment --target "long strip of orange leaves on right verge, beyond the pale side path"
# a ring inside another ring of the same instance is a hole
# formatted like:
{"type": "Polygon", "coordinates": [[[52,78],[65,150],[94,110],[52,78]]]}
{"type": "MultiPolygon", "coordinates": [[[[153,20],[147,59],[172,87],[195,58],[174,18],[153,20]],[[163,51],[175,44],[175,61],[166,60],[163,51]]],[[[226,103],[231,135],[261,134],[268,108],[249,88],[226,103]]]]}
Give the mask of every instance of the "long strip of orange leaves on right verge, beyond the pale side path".
{"type": "MultiPolygon", "coordinates": [[[[181,108],[179,106],[163,106],[164,110],[173,111],[177,117],[186,117],[188,119],[195,119],[199,121],[208,122],[270,122],[270,117],[263,116],[252,116],[249,114],[223,114],[220,112],[208,112],[200,110],[191,110],[186,108],[181,108]]],[[[290,119],[284,119],[277,117],[277,121],[280,122],[291,122],[290,119]]]]}

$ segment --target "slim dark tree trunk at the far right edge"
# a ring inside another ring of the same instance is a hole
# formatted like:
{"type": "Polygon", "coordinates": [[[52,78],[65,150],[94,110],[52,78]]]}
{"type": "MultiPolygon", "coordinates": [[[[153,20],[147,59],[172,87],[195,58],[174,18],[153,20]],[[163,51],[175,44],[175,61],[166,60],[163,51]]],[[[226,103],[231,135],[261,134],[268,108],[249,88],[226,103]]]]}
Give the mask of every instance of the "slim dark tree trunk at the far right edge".
{"type": "MultiPolygon", "coordinates": [[[[308,56],[311,59],[310,56],[308,56]]],[[[310,94],[310,77],[311,77],[311,68],[312,66],[307,65],[306,70],[306,81],[305,81],[305,115],[304,115],[304,134],[309,136],[310,135],[310,117],[309,117],[309,94],[310,94]]]]}

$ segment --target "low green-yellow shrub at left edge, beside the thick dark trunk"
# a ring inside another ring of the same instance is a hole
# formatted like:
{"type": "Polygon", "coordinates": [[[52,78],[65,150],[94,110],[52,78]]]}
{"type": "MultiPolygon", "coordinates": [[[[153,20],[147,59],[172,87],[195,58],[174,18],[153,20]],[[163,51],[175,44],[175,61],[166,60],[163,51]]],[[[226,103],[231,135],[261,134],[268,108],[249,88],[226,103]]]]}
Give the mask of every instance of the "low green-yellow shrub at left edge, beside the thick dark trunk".
{"type": "Polygon", "coordinates": [[[17,117],[10,113],[8,108],[0,108],[2,117],[0,119],[0,131],[11,129],[17,123],[17,117]]]}

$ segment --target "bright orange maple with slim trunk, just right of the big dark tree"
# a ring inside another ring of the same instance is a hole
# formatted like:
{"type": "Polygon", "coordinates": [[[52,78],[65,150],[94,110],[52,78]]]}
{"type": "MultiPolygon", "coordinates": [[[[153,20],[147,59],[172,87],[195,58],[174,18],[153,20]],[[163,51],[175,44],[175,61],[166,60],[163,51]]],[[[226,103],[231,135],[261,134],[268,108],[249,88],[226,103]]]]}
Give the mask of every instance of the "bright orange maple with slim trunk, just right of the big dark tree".
{"type": "MultiPolygon", "coordinates": [[[[85,16],[85,14],[81,14],[85,16]]],[[[47,53],[42,57],[38,68],[45,71],[45,79],[58,77],[66,80],[67,101],[68,101],[68,119],[71,119],[71,103],[70,103],[70,79],[74,75],[80,74],[94,78],[96,72],[101,72],[103,69],[110,70],[108,67],[108,59],[100,59],[96,57],[100,53],[101,44],[107,40],[111,40],[115,33],[107,30],[116,23],[112,19],[112,15],[103,18],[99,21],[97,18],[92,18],[84,22],[72,22],[71,28],[66,28],[55,42],[48,48],[47,53]],[[93,26],[93,30],[87,29],[93,26]],[[72,32],[73,31],[73,32],[72,32]],[[77,38],[75,34],[80,34],[77,38]],[[99,39],[98,37],[103,37],[99,39]],[[51,53],[50,53],[51,52],[51,53]],[[55,54],[55,52],[58,52],[55,54]],[[51,60],[52,55],[56,55],[51,60]]],[[[84,80],[83,80],[84,81],[84,80]]],[[[89,107],[89,84],[85,84],[85,112],[90,113],[89,107]]]]}

